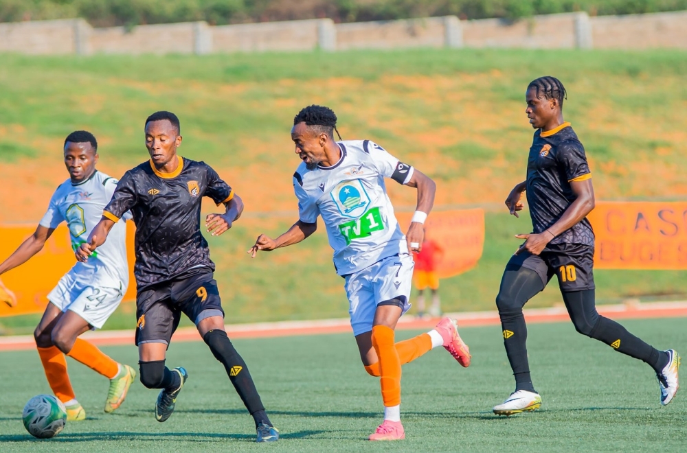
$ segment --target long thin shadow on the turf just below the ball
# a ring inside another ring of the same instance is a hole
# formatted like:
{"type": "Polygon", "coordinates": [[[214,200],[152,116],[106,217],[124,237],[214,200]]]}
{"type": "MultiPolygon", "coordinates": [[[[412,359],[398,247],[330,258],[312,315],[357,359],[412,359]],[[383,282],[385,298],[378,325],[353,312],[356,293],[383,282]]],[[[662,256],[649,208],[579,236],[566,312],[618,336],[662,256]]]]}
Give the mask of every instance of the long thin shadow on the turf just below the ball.
{"type": "MultiPolygon", "coordinates": [[[[280,434],[280,439],[307,439],[308,437],[322,434],[323,430],[307,430],[297,432],[285,432],[280,434]]],[[[36,439],[30,434],[0,436],[2,442],[91,442],[91,441],[157,441],[174,439],[185,442],[214,442],[221,439],[234,439],[237,441],[255,442],[255,434],[227,434],[218,432],[74,432],[71,434],[58,434],[52,439],[36,439]],[[183,439],[180,439],[183,438],[183,439]]]]}

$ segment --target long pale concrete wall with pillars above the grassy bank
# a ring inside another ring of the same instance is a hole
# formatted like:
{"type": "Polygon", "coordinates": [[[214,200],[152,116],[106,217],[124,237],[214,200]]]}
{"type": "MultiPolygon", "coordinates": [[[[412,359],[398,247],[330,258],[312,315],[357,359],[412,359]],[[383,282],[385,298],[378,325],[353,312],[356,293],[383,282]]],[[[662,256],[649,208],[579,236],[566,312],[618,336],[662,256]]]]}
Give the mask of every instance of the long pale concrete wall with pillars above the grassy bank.
{"type": "Polygon", "coordinates": [[[335,24],[331,19],[211,27],[205,22],[93,28],[83,19],[0,23],[0,52],[20,54],[210,54],[409,47],[687,49],[687,11],[520,21],[455,16],[335,24]]]}

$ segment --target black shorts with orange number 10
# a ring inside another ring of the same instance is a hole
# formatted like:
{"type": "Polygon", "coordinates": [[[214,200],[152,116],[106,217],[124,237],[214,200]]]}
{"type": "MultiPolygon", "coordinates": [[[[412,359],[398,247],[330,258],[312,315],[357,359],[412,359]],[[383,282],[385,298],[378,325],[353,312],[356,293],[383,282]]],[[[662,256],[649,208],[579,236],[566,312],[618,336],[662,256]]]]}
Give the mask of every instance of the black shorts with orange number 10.
{"type": "Polygon", "coordinates": [[[540,255],[523,251],[513,255],[506,268],[523,267],[539,274],[544,286],[554,275],[561,292],[593,290],[594,247],[583,244],[548,244],[540,255]]]}

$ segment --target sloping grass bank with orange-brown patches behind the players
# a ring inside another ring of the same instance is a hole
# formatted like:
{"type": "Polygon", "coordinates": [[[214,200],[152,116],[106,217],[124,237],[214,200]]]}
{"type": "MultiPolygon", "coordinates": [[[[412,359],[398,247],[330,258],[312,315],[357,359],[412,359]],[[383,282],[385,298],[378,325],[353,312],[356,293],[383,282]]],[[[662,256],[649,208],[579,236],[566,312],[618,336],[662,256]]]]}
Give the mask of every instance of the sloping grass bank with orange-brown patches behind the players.
{"type": "MultiPolygon", "coordinates": [[[[289,129],[297,111],[327,104],[344,139],[369,138],[438,183],[438,209],[488,207],[480,264],[442,282],[443,307],[491,310],[515,233],[530,231],[499,209],[524,177],[532,130],[523,93],[539,75],[567,86],[566,119],[587,148],[598,200],[684,200],[687,167],[684,51],[405,49],[213,56],[2,55],[0,223],[37,222],[58,183],[64,137],[92,130],[99,167],[113,176],[147,159],[144,119],[179,114],[181,154],[203,159],[246,203],[234,230],[210,238],[230,323],[345,317],[324,228],[303,244],[251,262],[258,233],[297,216],[289,129]],[[317,284],[313,284],[316,282],[317,284]]],[[[416,192],[390,185],[397,207],[416,192]]],[[[214,206],[214,205],[213,205],[214,206]]],[[[208,207],[205,212],[210,212],[208,207]]],[[[3,259],[4,257],[0,257],[3,259]]],[[[596,272],[600,303],[684,299],[683,271],[596,272]]],[[[555,285],[530,307],[560,302],[555,285]]],[[[32,331],[38,316],[0,318],[0,331],[32,331]]],[[[130,328],[123,304],[106,328],[130,328]]]]}

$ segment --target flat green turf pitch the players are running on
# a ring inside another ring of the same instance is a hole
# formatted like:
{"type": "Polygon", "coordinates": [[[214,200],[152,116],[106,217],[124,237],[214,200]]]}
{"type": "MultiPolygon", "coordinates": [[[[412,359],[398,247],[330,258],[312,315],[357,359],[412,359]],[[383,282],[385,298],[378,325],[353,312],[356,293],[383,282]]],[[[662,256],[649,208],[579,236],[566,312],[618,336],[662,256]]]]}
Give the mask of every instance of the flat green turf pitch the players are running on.
{"type": "MultiPolygon", "coordinates": [[[[687,351],[684,318],[627,321],[631,332],[660,347],[687,351]]],[[[87,421],[68,423],[47,441],[30,437],[21,408],[49,393],[35,351],[3,352],[0,379],[2,452],[647,452],[682,451],[687,436],[683,393],[660,406],[653,371],[576,334],[572,324],[530,325],[530,367],[541,410],[499,418],[491,413],[513,391],[499,327],[462,329],[473,363],[462,369],[443,349],[403,367],[407,439],[365,441],[381,422],[379,381],[368,376],[349,335],[236,340],[262,401],[280,428],[276,445],[255,445],[251,418],[224,369],[201,342],[172,344],[168,364],[190,373],[177,411],[157,423],[157,392],[136,382],[124,406],[102,413],[107,383],[69,360],[87,421]]],[[[400,332],[407,338],[414,332],[400,332]]],[[[135,364],[133,346],[106,347],[135,364]]],[[[684,390],[682,391],[684,392],[684,390]]]]}

